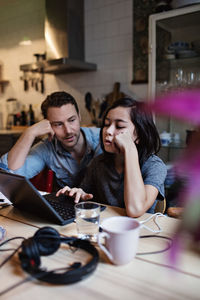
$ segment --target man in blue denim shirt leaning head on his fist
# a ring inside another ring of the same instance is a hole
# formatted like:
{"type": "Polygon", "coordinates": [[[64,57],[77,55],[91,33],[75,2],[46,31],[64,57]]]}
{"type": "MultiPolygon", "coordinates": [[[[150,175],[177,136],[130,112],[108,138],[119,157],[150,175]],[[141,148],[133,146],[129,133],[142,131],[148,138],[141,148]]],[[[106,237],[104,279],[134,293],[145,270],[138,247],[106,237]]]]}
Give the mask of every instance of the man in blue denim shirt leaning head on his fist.
{"type": "Polygon", "coordinates": [[[80,127],[77,103],[66,92],[47,96],[41,109],[44,120],[28,127],[1,162],[28,178],[47,166],[54,171],[59,186],[77,186],[88,163],[102,152],[99,129],[80,127]],[[32,147],[34,140],[45,134],[48,138],[32,147]]]}

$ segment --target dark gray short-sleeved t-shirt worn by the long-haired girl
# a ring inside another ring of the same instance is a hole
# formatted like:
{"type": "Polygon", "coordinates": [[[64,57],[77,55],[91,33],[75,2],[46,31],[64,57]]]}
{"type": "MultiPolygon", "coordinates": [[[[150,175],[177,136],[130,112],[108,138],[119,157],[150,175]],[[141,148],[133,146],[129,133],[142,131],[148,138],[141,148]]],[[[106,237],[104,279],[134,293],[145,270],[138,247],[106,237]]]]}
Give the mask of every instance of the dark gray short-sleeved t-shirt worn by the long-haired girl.
{"type": "MultiPolygon", "coordinates": [[[[158,198],[164,198],[164,181],[167,168],[156,155],[151,155],[141,167],[144,184],[149,184],[159,191],[158,198]]],[[[124,173],[119,174],[114,167],[112,155],[101,154],[88,166],[81,188],[94,195],[93,200],[112,206],[125,207],[124,173]]],[[[154,207],[153,205],[152,207],[154,207]]],[[[151,209],[148,212],[153,212],[151,209]]]]}

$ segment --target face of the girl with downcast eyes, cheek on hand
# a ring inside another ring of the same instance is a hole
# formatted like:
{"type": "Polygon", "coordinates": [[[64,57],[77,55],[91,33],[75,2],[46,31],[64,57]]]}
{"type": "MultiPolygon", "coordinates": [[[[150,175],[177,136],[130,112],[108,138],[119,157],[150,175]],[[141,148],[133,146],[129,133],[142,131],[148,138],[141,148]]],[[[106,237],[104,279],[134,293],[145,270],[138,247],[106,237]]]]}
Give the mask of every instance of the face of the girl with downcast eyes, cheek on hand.
{"type": "Polygon", "coordinates": [[[103,127],[103,144],[106,152],[119,153],[114,138],[116,135],[129,131],[133,141],[137,139],[135,125],[130,119],[130,108],[116,107],[111,109],[106,118],[103,127]]]}

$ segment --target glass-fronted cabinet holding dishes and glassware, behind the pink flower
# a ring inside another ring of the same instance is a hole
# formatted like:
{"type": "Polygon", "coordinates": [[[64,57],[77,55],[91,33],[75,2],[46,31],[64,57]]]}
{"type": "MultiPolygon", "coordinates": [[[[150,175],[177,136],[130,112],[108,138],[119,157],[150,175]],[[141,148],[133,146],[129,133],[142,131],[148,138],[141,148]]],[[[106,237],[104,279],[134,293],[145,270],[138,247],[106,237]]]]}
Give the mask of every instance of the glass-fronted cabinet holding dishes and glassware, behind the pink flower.
{"type": "MultiPolygon", "coordinates": [[[[199,32],[200,4],[150,15],[148,96],[152,101],[159,94],[200,85],[199,32]]],[[[191,124],[157,115],[155,122],[159,133],[179,133],[179,151],[184,148],[191,124]]]]}

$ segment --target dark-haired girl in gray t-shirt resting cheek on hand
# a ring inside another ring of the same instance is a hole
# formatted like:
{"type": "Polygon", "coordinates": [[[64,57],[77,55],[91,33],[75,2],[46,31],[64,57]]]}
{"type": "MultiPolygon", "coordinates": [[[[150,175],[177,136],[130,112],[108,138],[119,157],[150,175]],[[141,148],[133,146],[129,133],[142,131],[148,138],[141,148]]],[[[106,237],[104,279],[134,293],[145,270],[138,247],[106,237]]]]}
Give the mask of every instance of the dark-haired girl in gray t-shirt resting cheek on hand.
{"type": "Polygon", "coordinates": [[[167,169],[155,155],[159,134],[143,105],[131,98],[115,101],[101,128],[104,153],[93,159],[80,188],[66,186],[57,195],[125,207],[130,217],[154,212],[157,199],[164,198],[167,169]]]}

